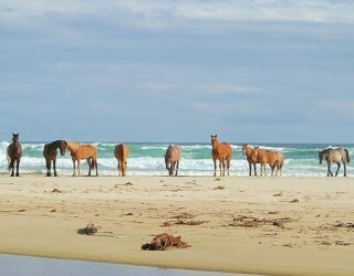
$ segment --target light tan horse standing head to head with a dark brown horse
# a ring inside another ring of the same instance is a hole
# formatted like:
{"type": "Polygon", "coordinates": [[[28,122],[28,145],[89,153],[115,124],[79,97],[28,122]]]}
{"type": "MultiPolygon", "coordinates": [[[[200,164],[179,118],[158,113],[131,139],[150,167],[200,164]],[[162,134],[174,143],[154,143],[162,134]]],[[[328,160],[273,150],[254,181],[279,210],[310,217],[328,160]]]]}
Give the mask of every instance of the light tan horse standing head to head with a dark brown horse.
{"type": "Polygon", "coordinates": [[[97,171],[97,148],[92,145],[82,145],[74,141],[67,141],[67,150],[70,151],[71,158],[73,160],[74,171],[73,177],[76,174],[76,161],[77,170],[80,176],[80,160],[86,159],[88,164],[88,177],[91,177],[91,170],[96,168],[96,177],[98,177],[97,171]]]}

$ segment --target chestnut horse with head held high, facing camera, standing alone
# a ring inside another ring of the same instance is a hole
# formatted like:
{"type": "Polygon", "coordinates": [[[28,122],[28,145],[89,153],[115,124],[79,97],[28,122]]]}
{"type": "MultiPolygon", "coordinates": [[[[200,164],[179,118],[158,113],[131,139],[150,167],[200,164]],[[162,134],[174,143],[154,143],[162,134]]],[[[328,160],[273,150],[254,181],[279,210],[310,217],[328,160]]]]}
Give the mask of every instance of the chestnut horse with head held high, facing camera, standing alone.
{"type": "Polygon", "coordinates": [[[225,167],[227,166],[228,176],[230,176],[230,161],[232,157],[231,146],[227,142],[219,142],[217,135],[211,135],[211,155],[214,161],[214,177],[217,176],[217,160],[219,160],[220,177],[225,176],[225,167]],[[221,173],[222,164],[222,173],[221,173]]]}

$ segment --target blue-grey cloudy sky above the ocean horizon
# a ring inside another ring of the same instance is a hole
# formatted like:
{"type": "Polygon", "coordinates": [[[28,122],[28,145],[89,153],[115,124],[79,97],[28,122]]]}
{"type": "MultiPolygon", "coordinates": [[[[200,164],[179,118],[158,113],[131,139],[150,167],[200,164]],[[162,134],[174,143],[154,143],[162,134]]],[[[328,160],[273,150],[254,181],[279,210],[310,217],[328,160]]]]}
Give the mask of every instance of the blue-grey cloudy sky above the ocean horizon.
{"type": "Polygon", "coordinates": [[[0,140],[353,142],[354,1],[1,0],[0,140]]]}

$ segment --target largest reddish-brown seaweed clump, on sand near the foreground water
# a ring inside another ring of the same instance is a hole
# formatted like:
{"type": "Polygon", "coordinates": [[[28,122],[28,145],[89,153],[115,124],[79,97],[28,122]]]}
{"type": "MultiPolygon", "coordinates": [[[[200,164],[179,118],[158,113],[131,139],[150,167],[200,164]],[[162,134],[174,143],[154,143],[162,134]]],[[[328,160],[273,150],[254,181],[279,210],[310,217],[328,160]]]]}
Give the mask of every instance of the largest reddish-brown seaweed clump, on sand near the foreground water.
{"type": "Polygon", "coordinates": [[[180,241],[180,236],[173,236],[167,233],[158,234],[153,238],[150,243],[142,245],[144,251],[166,251],[169,248],[187,248],[190,245],[186,242],[180,241]]]}

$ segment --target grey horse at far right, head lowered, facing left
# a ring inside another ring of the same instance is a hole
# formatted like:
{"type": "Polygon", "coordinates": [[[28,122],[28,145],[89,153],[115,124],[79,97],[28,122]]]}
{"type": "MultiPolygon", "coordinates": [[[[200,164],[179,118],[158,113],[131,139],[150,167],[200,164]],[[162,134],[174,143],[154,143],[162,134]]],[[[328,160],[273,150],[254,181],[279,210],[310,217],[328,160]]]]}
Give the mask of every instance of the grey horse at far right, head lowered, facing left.
{"type": "Polygon", "coordinates": [[[324,149],[322,151],[319,151],[319,159],[320,164],[322,163],[322,160],[324,159],[327,162],[327,177],[333,177],[333,173],[331,171],[331,163],[336,163],[337,169],[335,172],[335,177],[339,174],[340,168],[341,168],[341,161],[344,166],[344,177],[346,177],[346,164],[351,162],[350,153],[347,149],[337,148],[337,149],[324,149]]]}

